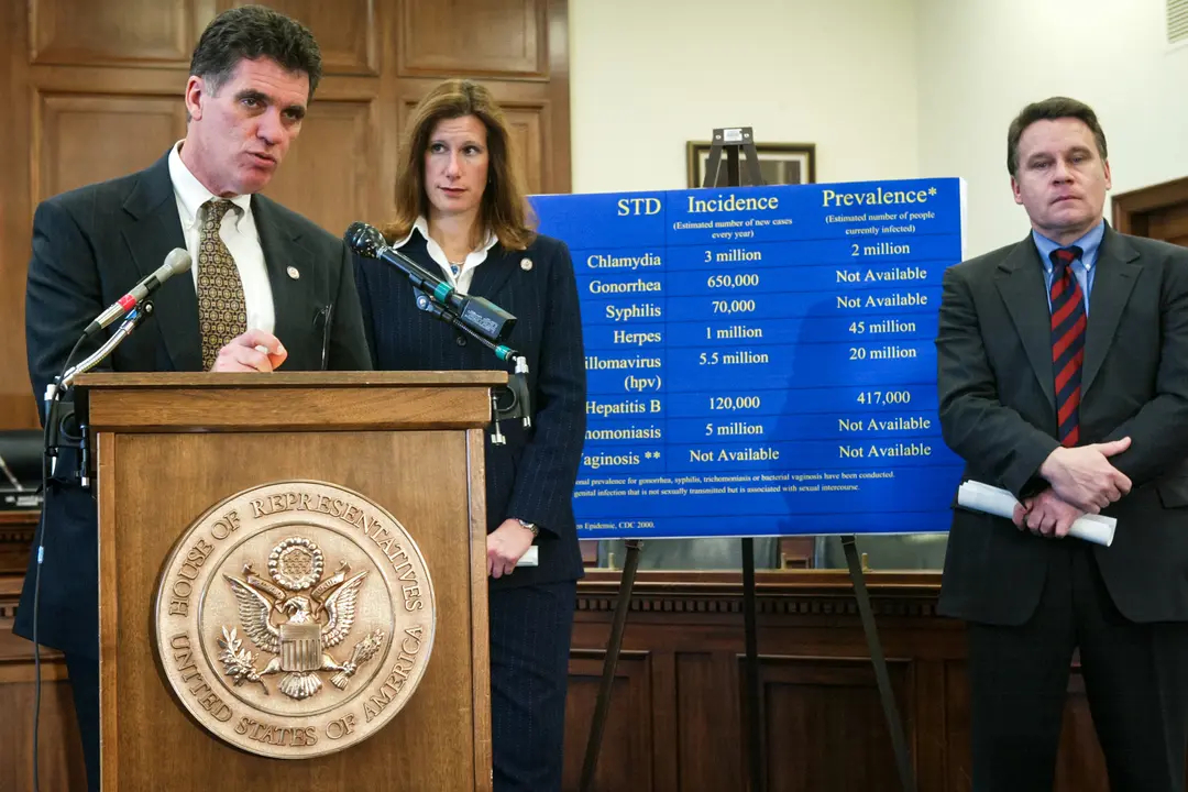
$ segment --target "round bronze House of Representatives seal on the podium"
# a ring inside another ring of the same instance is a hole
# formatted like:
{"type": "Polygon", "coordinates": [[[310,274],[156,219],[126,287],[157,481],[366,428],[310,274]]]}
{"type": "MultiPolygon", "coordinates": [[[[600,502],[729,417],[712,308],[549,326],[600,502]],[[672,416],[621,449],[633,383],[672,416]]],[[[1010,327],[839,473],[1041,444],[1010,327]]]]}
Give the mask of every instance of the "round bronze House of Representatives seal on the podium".
{"type": "Polygon", "coordinates": [[[200,724],[305,759],[400,711],[435,613],[424,558],[392,514],[336,484],[284,481],[232,495],[182,534],[153,617],[164,676],[200,724]]]}

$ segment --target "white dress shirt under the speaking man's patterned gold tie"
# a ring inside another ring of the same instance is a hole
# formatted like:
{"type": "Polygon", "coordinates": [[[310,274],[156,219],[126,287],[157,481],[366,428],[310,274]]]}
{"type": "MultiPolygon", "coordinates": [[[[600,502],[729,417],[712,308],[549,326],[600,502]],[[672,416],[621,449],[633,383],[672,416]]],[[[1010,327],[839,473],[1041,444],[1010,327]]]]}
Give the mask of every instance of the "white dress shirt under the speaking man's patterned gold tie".
{"type": "MultiPolygon", "coordinates": [[[[177,216],[182,220],[182,234],[185,235],[185,249],[194,259],[190,272],[194,275],[194,290],[197,292],[198,235],[202,232],[198,210],[207,201],[219,196],[208,190],[182,161],[178,152],[184,142],[179,140],[169,152],[169,177],[173,182],[173,197],[177,199],[177,216]]],[[[239,279],[244,284],[247,329],[271,334],[276,329],[277,312],[272,303],[268,270],[264,265],[260,234],[255,230],[255,220],[252,217],[252,196],[238,195],[228,201],[235,204],[235,208],[223,215],[219,236],[235,259],[235,268],[239,270],[239,279]]]]}

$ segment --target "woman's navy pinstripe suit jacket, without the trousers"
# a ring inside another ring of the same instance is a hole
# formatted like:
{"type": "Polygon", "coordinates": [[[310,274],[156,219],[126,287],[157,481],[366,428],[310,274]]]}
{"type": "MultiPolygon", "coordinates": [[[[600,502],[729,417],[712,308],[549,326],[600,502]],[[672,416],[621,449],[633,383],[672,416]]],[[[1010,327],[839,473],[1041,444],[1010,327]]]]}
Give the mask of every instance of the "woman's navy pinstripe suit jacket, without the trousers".
{"type": "MultiPolygon", "coordinates": [[[[440,271],[419,233],[400,252],[429,272],[440,271]]],[[[412,287],[394,267],[356,258],[355,281],[377,370],[507,370],[476,341],[417,310],[412,287]]],[[[488,438],[487,532],[508,518],[535,522],[539,566],[517,568],[492,585],[577,579],[582,562],[573,494],[586,437],[586,360],[569,249],[548,236],[526,251],[497,245],[475,270],[469,291],[516,316],[507,344],[527,361],[535,412],[530,430],[518,419],[500,424],[506,445],[488,438]],[[531,268],[523,268],[524,260],[531,268]]]]}

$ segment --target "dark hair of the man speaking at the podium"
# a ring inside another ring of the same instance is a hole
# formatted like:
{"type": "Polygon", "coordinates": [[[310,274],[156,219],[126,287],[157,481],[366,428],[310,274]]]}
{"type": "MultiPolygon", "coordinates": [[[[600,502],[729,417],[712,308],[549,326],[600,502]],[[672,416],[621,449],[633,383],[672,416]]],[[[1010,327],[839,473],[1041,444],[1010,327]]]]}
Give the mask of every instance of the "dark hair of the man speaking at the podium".
{"type": "Polygon", "coordinates": [[[216,93],[242,59],[270,58],[280,68],[309,76],[309,97],[322,78],[322,51],[301,23],[264,6],[242,6],[215,17],[202,31],[190,75],[216,93]]]}

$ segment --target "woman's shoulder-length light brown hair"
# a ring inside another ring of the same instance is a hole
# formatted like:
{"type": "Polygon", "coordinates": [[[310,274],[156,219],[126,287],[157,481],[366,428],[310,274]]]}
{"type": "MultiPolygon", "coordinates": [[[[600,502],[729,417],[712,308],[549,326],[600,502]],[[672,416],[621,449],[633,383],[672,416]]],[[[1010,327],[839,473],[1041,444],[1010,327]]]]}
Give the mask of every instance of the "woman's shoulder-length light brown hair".
{"type": "Polygon", "coordinates": [[[479,222],[470,247],[486,241],[488,232],[510,251],[523,251],[536,237],[531,211],[512,169],[511,138],[504,113],[491,91],[470,80],[447,80],[421,100],[400,145],[400,165],[396,177],[396,217],[384,227],[390,242],[404,239],[418,215],[429,216],[425,191],[425,151],[429,137],[440,121],[473,115],[487,128],[487,184],[479,205],[479,222]]]}

